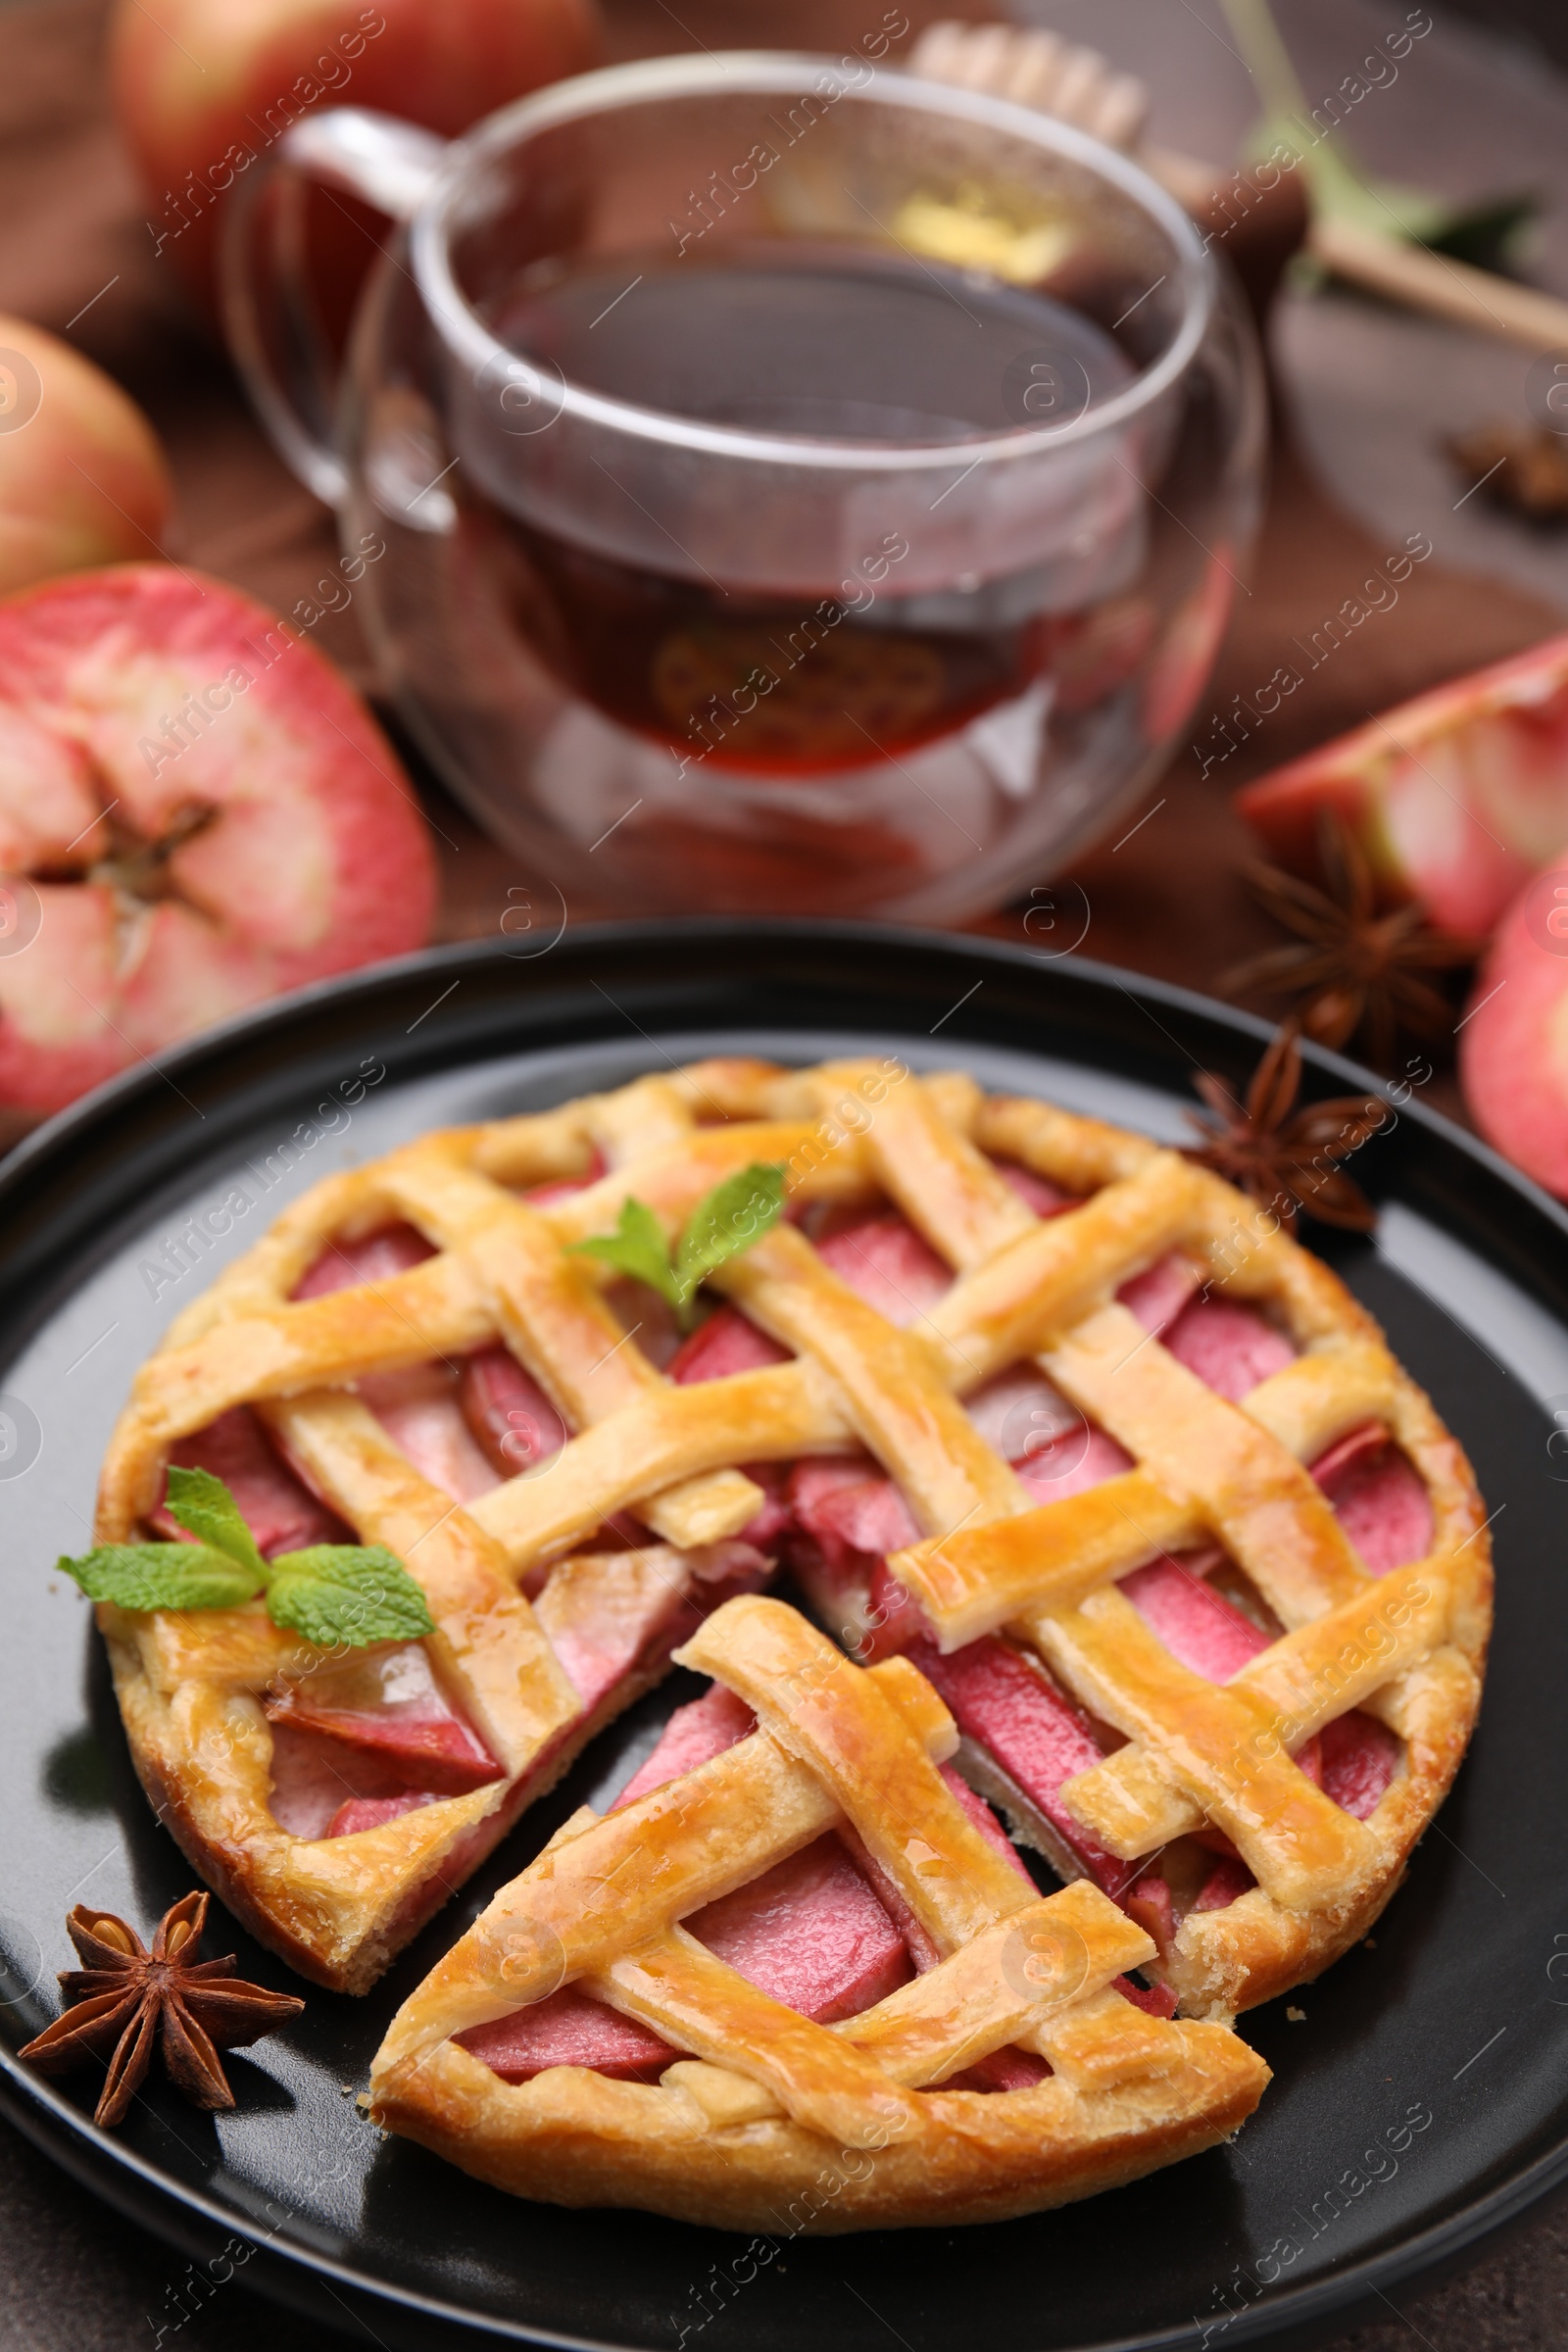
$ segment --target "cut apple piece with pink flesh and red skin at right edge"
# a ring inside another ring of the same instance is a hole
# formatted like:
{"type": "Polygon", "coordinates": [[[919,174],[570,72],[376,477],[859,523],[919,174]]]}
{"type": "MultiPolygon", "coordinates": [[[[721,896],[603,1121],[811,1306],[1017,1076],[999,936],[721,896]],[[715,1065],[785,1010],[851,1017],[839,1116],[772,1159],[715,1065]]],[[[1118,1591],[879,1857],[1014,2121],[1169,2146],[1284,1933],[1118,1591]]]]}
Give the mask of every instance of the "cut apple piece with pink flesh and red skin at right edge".
{"type": "Polygon", "coordinates": [[[1389,901],[1486,936],[1519,887],[1568,847],[1568,635],[1455,677],[1237,793],[1295,873],[1319,870],[1340,816],[1389,901]]]}

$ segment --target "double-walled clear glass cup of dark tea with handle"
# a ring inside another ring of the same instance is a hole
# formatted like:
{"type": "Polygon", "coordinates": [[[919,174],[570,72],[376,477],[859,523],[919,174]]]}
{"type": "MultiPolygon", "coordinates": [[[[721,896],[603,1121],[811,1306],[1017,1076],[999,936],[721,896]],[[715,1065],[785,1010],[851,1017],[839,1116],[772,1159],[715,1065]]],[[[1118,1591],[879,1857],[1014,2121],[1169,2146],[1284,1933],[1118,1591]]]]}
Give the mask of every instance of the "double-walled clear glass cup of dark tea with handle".
{"type": "Polygon", "coordinates": [[[1159,774],[1255,524],[1255,343],[1187,214],[875,54],[616,66],[451,146],[310,115],[226,308],[409,729],[571,908],[1025,894],[1159,774]],[[341,381],[313,181],[400,223],[341,381]]]}

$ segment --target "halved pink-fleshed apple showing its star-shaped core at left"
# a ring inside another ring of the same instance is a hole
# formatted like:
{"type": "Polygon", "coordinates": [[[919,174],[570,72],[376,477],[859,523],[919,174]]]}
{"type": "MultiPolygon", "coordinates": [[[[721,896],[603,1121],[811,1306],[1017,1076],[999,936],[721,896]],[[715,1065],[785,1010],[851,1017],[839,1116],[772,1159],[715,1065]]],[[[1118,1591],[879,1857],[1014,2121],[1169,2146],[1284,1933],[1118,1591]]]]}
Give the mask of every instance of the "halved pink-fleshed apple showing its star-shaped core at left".
{"type": "Polygon", "coordinates": [[[430,936],[435,861],[357,694],[174,564],[0,604],[0,1103],[430,936]]]}

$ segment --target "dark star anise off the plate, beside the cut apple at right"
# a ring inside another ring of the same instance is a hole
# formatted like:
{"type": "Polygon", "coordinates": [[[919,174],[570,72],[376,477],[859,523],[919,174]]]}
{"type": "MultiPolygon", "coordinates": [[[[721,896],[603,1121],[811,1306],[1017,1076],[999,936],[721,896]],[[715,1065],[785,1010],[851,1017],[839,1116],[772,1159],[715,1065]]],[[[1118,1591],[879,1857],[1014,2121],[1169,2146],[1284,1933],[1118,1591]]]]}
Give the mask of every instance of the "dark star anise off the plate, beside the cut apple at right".
{"type": "Polygon", "coordinates": [[[1434,931],[1418,906],[1378,913],[1378,884],[1349,826],[1324,814],[1319,856],[1326,889],[1248,866],[1246,877],[1267,913],[1300,946],[1269,948],[1220,978],[1220,995],[1302,997],[1300,1025],[1316,1044],[1342,1047],[1363,1035],[1368,1058],[1387,1065],[1401,1028],[1418,1037],[1453,1030],[1453,1007],[1422,971],[1472,964],[1479,941],[1434,931]]]}

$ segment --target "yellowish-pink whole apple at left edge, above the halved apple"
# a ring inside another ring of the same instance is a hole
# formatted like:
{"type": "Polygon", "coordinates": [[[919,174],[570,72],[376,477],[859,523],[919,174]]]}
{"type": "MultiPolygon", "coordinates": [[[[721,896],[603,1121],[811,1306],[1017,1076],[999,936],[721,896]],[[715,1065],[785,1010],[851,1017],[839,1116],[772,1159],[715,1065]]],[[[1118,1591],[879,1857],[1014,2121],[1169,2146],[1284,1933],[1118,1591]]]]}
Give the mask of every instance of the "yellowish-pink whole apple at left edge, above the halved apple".
{"type": "Polygon", "coordinates": [[[158,555],[169,470],[153,426],[101,367],[0,313],[0,595],[158,555]]]}

